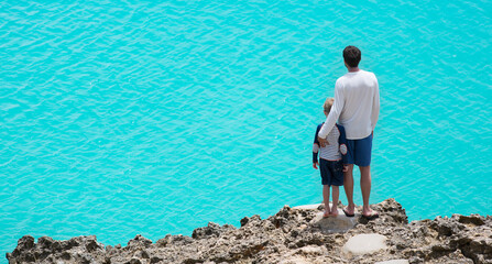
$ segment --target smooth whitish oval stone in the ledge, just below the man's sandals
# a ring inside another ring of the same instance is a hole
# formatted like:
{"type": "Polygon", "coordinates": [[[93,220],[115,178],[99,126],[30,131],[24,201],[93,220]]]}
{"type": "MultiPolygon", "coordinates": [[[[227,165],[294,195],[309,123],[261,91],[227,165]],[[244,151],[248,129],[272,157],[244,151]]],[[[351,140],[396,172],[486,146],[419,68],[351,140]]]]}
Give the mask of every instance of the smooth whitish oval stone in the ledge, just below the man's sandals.
{"type": "Polygon", "coordinates": [[[358,234],[349,239],[343,251],[354,255],[373,253],[386,249],[386,237],[376,233],[358,234]]]}

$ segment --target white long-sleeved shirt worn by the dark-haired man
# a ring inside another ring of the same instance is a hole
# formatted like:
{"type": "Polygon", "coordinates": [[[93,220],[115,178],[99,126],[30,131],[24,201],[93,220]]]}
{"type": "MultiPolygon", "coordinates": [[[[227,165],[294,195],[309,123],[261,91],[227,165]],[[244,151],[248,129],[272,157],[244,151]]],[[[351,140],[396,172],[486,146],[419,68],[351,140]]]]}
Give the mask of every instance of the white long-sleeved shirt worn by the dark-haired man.
{"type": "Polygon", "coordinates": [[[339,120],[348,140],[368,138],[379,114],[380,89],[375,75],[362,69],[347,73],[335,85],[335,102],[318,135],[325,139],[339,120]]]}

